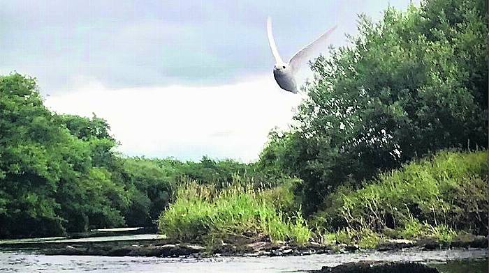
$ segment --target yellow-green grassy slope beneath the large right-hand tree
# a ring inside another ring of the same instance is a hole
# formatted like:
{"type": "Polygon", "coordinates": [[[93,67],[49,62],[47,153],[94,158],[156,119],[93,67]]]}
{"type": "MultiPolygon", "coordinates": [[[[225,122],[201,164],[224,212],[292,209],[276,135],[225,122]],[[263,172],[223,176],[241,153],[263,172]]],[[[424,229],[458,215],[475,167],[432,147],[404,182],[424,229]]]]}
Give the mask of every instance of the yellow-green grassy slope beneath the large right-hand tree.
{"type": "Polygon", "coordinates": [[[362,189],[338,190],[313,222],[330,232],[394,229],[397,237],[426,235],[441,242],[455,231],[487,234],[487,182],[487,151],[440,152],[384,173],[362,189]]]}

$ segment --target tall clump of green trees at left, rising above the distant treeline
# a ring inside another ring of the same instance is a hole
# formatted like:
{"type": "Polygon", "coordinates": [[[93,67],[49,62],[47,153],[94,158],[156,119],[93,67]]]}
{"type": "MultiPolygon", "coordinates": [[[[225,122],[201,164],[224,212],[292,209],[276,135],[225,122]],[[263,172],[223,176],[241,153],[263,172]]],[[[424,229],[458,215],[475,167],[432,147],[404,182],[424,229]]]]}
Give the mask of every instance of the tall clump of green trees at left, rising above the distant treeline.
{"type": "Polygon", "coordinates": [[[96,117],[46,109],[36,80],[0,77],[0,236],[124,225],[130,196],[96,117]]]}

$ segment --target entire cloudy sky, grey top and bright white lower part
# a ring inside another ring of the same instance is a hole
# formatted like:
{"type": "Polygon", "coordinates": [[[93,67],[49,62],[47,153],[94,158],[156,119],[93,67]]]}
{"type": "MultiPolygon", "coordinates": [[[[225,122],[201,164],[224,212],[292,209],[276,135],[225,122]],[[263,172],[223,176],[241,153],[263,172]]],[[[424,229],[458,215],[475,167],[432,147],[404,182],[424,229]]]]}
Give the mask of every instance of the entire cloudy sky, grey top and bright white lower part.
{"type": "Polygon", "coordinates": [[[301,100],[275,84],[266,17],[289,59],[335,24],[330,44],[346,45],[359,13],[388,5],[409,0],[3,0],[0,74],[36,77],[53,111],[107,119],[126,155],[249,162],[301,100]]]}

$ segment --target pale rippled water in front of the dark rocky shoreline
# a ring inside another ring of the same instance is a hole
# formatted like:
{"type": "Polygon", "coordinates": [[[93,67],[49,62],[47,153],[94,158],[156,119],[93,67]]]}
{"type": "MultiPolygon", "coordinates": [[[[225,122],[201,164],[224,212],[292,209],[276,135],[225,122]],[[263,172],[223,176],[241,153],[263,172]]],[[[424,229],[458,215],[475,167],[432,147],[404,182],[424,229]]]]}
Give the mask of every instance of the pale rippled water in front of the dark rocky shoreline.
{"type": "MultiPolygon", "coordinates": [[[[104,256],[44,256],[31,252],[0,252],[0,272],[303,272],[319,270],[322,266],[335,266],[360,260],[416,261],[437,263],[447,260],[465,260],[464,266],[477,272],[475,264],[483,262],[467,259],[484,259],[487,249],[443,251],[395,251],[349,254],[323,254],[297,257],[222,257],[222,258],[147,258],[104,256]]],[[[486,260],[487,263],[487,260],[486,260]]],[[[448,265],[448,271],[451,272],[448,265]]],[[[487,272],[481,271],[481,272],[487,272]]]]}

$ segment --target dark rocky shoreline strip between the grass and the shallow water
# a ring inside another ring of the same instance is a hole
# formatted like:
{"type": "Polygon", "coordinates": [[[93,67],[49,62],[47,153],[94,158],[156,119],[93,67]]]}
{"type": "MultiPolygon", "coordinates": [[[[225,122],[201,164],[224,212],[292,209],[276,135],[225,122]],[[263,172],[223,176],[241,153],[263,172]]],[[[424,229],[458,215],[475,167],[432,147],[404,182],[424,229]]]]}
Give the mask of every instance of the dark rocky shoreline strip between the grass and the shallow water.
{"type": "Polygon", "coordinates": [[[435,249],[487,249],[488,239],[465,235],[450,244],[435,240],[386,240],[375,249],[362,249],[357,244],[305,245],[270,242],[268,238],[234,239],[213,245],[182,243],[163,235],[139,234],[78,239],[46,238],[46,240],[8,240],[0,242],[1,250],[28,249],[43,255],[68,256],[145,256],[162,258],[205,258],[219,256],[307,256],[312,254],[363,253],[368,251],[430,251],[435,249]],[[261,240],[260,240],[261,239],[261,240]]]}

